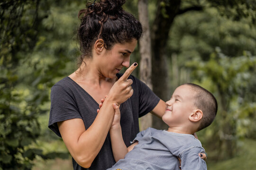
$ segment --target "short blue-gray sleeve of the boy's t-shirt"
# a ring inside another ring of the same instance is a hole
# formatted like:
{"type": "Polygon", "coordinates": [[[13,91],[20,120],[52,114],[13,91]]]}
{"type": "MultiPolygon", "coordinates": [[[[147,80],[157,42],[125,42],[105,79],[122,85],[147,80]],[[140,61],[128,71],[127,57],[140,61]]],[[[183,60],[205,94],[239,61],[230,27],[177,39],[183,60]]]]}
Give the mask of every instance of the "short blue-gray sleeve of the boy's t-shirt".
{"type": "Polygon", "coordinates": [[[205,153],[205,150],[199,146],[193,146],[184,150],[179,157],[181,158],[182,170],[207,170],[206,163],[198,153],[205,153]]]}

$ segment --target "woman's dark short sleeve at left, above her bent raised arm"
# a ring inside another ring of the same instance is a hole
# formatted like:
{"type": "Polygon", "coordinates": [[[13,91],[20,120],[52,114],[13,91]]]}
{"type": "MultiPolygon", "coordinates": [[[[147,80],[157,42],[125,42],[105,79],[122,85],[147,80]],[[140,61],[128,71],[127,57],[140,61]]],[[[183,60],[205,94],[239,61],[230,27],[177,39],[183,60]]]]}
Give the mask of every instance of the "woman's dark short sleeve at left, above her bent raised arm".
{"type": "Polygon", "coordinates": [[[48,127],[61,137],[57,122],[68,119],[82,119],[72,92],[61,85],[54,85],[51,89],[51,110],[48,127]]]}

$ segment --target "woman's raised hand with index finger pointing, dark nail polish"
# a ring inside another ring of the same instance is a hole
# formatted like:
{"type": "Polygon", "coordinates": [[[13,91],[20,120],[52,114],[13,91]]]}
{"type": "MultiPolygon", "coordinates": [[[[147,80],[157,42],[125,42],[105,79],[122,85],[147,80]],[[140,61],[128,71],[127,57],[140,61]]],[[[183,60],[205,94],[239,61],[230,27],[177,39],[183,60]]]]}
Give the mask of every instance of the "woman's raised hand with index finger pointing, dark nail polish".
{"type": "Polygon", "coordinates": [[[133,89],[131,87],[132,80],[128,79],[132,71],[137,67],[137,63],[132,64],[119,78],[119,80],[112,86],[108,99],[120,105],[130,98],[133,94],[133,89]]]}

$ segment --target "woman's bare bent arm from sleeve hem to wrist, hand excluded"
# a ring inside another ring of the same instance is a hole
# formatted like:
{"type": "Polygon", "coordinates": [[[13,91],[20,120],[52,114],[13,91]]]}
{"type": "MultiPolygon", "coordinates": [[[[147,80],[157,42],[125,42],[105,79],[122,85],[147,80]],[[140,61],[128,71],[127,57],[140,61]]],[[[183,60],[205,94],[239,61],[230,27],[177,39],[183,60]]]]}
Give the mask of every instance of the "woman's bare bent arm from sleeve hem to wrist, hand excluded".
{"type": "MultiPolygon", "coordinates": [[[[82,119],[78,122],[64,121],[58,123],[61,136],[74,160],[82,167],[88,168],[100,152],[109,132],[114,117],[113,101],[106,99],[96,119],[85,130],[82,119]]],[[[96,110],[95,110],[96,112],[96,110]]]]}

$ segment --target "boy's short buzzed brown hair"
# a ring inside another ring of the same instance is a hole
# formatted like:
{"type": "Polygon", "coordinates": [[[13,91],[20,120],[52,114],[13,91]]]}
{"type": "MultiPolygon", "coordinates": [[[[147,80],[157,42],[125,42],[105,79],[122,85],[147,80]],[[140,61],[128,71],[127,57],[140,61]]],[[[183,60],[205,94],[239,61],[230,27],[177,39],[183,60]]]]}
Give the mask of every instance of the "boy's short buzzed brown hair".
{"type": "Polygon", "coordinates": [[[186,83],[184,85],[189,85],[190,87],[192,87],[192,90],[196,92],[194,96],[194,104],[198,109],[202,110],[203,112],[201,123],[197,129],[197,131],[199,131],[205,127],[208,127],[212,123],[217,114],[218,103],[213,94],[205,88],[201,87],[200,85],[196,85],[193,83],[186,83]]]}

